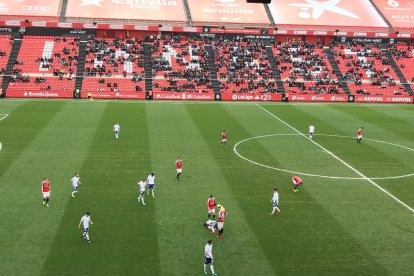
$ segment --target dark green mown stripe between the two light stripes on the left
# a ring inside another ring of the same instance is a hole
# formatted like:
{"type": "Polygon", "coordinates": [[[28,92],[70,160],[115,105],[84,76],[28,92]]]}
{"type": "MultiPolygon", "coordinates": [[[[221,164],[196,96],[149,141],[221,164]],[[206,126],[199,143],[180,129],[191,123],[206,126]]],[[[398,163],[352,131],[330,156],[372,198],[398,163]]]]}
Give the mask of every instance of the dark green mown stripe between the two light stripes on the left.
{"type": "Polygon", "coordinates": [[[151,170],[144,106],[109,103],[92,137],[81,190],[66,209],[43,274],[158,275],[156,202],[137,202],[136,183],[151,170]],[[75,229],[86,211],[95,223],[92,244],[75,229]]]}

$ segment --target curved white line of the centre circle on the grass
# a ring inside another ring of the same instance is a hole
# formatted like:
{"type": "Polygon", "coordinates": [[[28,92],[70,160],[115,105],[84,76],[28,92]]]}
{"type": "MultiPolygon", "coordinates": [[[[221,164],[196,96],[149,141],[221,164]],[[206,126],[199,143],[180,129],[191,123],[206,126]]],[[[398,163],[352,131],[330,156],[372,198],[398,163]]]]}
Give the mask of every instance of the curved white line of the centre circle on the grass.
{"type": "MultiPolygon", "coordinates": [[[[282,169],[282,168],[277,168],[277,167],[273,167],[273,166],[269,166],[266,164],[262,164],[260,162],[256,162],[254,160],[251,160],[245,156],[243,156],[242,154],[240,154],[237,151],[237,147],[245,142],[251,141],[251,140],[256,140],[256,139],[261,139],[261,138],[267,138],[267,137],[274,137],[274,136],[303,136],[303,134],[297,134],[297,133],[289,133],[289,134],[269,134],[269,135],[261,135],[261,136],[254,136],[254,137],[250,137],[244,140],[241,140],[239,142],[237,142],[234,147],[233,147],[233,151],[234,153],[240,157],[241,159],[252,163],[254,165],[260,166],[260,167],[264,167],[267,169],[271,169],[271,170],[276,170],[276,171],[281,171],[281,172],[287,172],[287,173],[291,173],[291,174],[297,174],[297,175],[303,175],[303,176],[310,176],[310,177],[319,177],[319,178],[329,178],[329,179],[347,179],[347,180],[366,180],[366,178],[364,177],[349,177],[349,176],[330,176],[330,175],[319,175],[319,174],[311,174],[311,173],[305,173],[305,172],[298,172],[298,171],[293,171],[293,170],[287,170],[287,169],[282,169]]],[[[314,136],[326,136],[326,137],[337,137],[337,138],[348,138],[348,139],[355,139],[355,137],[353,136],[345,136],[345,135],[335,135],[335,134],[314,134],[314,136]]],[[[386,145],[390,145],[390,146],[394,146],[394,147],[398,147],[398,148],[402,148],[405,149],[407,151],[411,151],[414,152],[414,149],[406,147],[406,146],[402,146],[399,144],[395,144],[395,143],[391,143],[391,142],[387,142],[387,141],[381,141],[381,140],[376,140],[376,139],[370,139],[370,138],[364,138],[364,140],[367,141],[372,141],[372,142],[376,142],[376,143],[381,143],[381,144],[386,144],[386,145]]],[[[410,173],[410,174],[404,174],[404,175],[396,175],[396,176],[385,176],[385,177],[368,177],[368,179],[371,180],[386,180],[386,179],[398,179],[398,178],[405,178],[405,177],[411,177],[414,176],[414,173],[410,173]]]]}

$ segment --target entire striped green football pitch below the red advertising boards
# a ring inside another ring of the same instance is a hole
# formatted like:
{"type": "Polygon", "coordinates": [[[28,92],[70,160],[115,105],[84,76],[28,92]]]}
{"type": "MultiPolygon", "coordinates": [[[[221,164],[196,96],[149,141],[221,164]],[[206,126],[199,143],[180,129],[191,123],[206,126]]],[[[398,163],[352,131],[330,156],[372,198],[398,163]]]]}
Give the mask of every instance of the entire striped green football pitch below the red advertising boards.
{"type": "Polygon", "coordinates": [[[413,130],[413,105],[0,101],[0,274],[203,275],[213,239],[218,275],[413,275],[413,130]],[[203,227],[210,194],[222,239],[203,227]]]}

